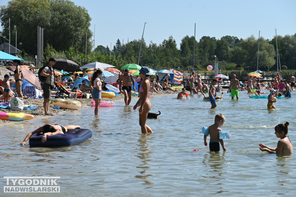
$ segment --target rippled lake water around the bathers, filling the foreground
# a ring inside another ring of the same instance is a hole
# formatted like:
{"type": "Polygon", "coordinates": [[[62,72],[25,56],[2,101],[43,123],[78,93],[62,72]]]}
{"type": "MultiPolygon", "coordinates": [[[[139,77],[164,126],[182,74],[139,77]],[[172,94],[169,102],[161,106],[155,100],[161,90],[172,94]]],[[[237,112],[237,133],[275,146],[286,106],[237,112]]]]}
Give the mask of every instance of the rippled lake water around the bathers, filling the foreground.
{"type": "Polygon", "coordinates": [[[141,135],[139,113],[132,109],[134,98],[131,106],[116,101],[112,108],[100,108],[99,118],[90,106],[47,120],[15,122],[0,128],[1,175],[60,176],[57,196],[295,196],[295,156],[258,148],[260,142],[276,147],[273,127],[286,121],[296,147],[295,91],[292,98],[278,99],[276,110],[267,110],[267,99],[248,96],[241,91],[237,101],[224,95],[216,109],[209,109],[200,94],[183,101],[173,95],[153,97],[150,112],[161,115],[147,120],[154,132],[147,136],[141,135]],[[213,124],[218,113],[226,117],[222,130],[230,130],[232,138],[224,140],[226,152],[210,154],[199,131],[213,124]],[[47,123],[78,124],[93,136],[64,148],[19,145],[28,132],[47,123]]]}

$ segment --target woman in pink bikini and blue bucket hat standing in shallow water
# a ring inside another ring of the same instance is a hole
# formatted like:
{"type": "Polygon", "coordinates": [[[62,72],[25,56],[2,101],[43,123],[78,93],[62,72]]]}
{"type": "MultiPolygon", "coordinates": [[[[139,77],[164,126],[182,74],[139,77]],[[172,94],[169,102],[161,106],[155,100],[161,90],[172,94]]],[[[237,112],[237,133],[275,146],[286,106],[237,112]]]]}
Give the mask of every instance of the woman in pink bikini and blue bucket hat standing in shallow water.
{"type": "Polygon", "coordinates": [[[151,103],[149,101],[150,98],[150,83],[148,77],[150,76],[150,72],[148,67],[143,66],[140,72],[140,77],[142,78],[142,81],[139,84],[139,100],[133,106],[133,110],[136,110],[138,106],[139,108],[139,124],[141,126],[142,134],[148,134],[153,133],[151,128],[146,125],[147,120],[147,114],[149,110],[151,109],[151,103]]]}

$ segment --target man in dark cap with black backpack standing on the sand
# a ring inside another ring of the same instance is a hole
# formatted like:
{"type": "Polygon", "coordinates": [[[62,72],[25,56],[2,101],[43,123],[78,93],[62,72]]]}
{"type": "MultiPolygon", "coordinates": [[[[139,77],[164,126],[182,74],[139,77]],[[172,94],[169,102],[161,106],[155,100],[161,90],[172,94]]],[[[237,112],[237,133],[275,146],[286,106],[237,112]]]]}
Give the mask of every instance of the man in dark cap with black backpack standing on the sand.
{"type": "MultiPolygon", "coordinates": [[[[42,84],[42,89],[43,89],[43,96],[44,96],[44,111],[46,116],[53,116],[53,114],[49,113],[49,101],[51,98],[52,94],[52,88],[54,87],[54,71],[52,70],[52,66],[57,62],[57,60],[54,57],[49,58],[49,63],[47,66],[42,67],[40,75],[44,77],[44,83],[42,84]]],[[[39,77],[40,79],[40,77],[39,77]]],[[[43,80],[41,80],[43,82],[43,80]]]]}

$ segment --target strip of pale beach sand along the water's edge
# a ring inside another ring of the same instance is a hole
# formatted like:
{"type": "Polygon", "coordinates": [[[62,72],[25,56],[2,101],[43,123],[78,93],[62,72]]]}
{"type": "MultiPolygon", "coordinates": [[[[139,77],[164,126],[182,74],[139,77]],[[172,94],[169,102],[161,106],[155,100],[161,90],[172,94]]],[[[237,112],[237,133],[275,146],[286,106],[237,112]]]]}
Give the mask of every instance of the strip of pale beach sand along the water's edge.
{"type": "MultiPolygon", "coordinates": [[[[177,91],[177,92],[173,92],[173,91],[169,91],[169,90],[160,91],[159,93],[154,92],[154,93],[151,93],[150,97],[164,96],[164,95],[168,95],[168,94],[176,94],[178,92],[181,92],[181,89],[180,89],[180,91],[177,91]]],[[[138,99],[138,96],[134,95],[134,96],[132,96],[132,99],[138,99]]],[[[81,102],[81,108],[86,108],[86,107],[91,106],[91,100],[92,99],[72,99],[72,100],[80,101],[81,102]]],[[[124,100],[124,95],[123,94],[120,94],[119,96],[115,96],[112,99],[110,99],[110,98],[102,98],[102,101],[114,101],[114,102],[116,102],[116,101],[123,101],[123,100],[124,100]]],[[[43,107],[43,101],[44,101],[44,99],[32,99],[32,98],[31,99],[24,99],[24,104],[25,105],[30,105],[30,104],[36,105],[36,106],[39,107],[37,110],[12,111],[11,109],[0,108],[0,112],[32,114],[32,115],[34,115],[34,118],[45,119],[45,118],[48,118],[50,116],[45,116],[44,115],[45,112],[44,112],[44,107],[43,107]]],[[[73,109],[65,109],[65,108],[60,108],[59,110],[57,110],[57,109],[53,109],[53,107],[54,107],[53,104],[49,103],[49,111],[50,111],[50,113],[52,113],[54,115],[74,111],[73,109]]],[[[24,120],[24,121],[26,121],[26,120],[24,120]]],[[[23,122],[23,121],[0,120],[0,124],[1,124],[0,128],[4,127],[4,126],[7,126],[7,125],[10,125],[10,124],[12,124],[14,122],[23,122]]]]}

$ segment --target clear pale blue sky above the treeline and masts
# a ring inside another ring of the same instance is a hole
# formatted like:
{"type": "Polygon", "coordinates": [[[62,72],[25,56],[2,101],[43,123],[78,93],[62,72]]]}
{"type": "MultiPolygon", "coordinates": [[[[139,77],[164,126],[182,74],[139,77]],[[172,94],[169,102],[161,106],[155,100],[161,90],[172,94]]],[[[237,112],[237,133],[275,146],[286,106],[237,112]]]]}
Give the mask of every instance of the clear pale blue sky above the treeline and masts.
{"type": "Polygon", "coordinates": [[[202,36],[220,39],[224,35],[272,39],[296,33],[295,0],[72,0],[91,16],[95,47],[111,48],[117,39],[127,43],[141,39],[157,45],[170,35],[180,47],[181,39],[202,36]],[[276,32],[275,32],[276,28],[276,32]]]}

